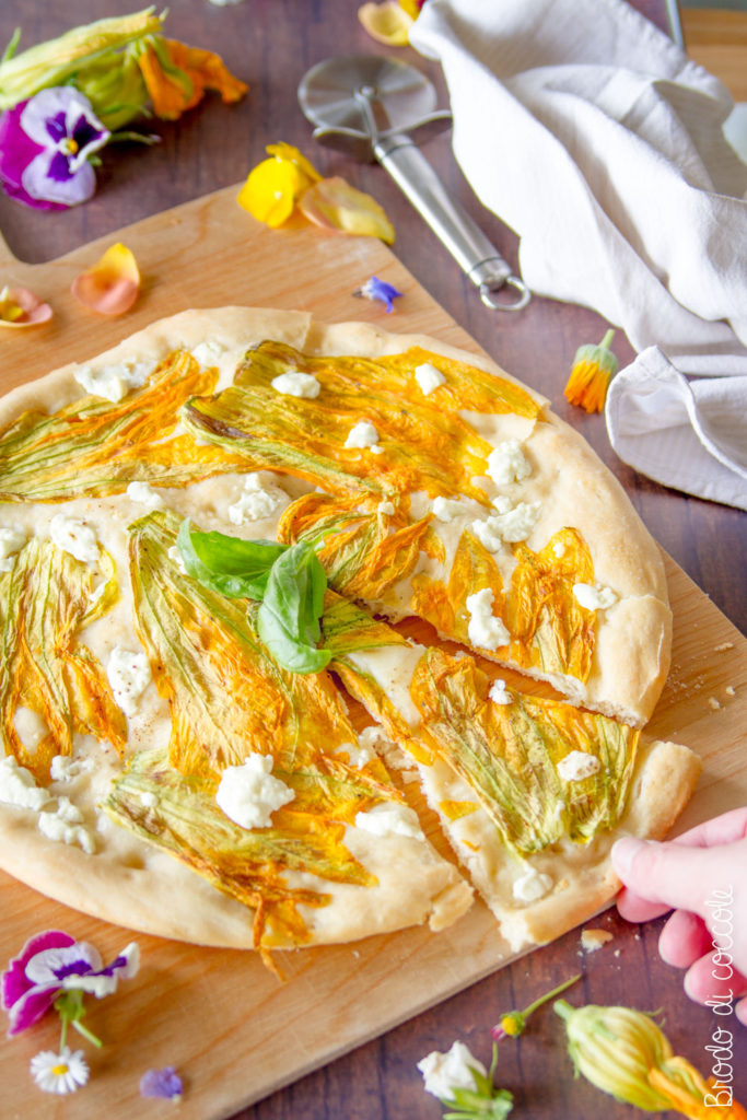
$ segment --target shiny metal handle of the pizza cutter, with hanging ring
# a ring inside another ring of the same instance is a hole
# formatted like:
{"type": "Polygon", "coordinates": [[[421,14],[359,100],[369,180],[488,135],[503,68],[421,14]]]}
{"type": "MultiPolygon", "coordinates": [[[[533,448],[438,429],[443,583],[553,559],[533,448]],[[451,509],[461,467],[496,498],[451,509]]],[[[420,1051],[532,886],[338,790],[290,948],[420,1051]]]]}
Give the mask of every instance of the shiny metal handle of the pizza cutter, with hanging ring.
{"type": "Polygon", "coordinates": [[[451,197],[412,138],[404,132],[381,131],[376,90],[363,85],[354,96],[377,162],[389,171],[441,244],[479,288],[485,306],[496,311],[520,311],[526,307],[531,292],[524,281],[513,274],[507,261],[451,197]],[[497,299],[496,293],[504,288],[516,291],[517,299],[497,299]]]}

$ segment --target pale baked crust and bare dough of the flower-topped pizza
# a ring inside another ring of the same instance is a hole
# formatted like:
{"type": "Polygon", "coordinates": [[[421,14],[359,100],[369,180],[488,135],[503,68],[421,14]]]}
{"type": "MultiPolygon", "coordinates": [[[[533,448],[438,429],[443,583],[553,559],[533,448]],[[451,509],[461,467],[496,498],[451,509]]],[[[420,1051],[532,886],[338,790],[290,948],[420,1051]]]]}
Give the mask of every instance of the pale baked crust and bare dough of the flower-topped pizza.
{"type": "MultiPolygon", "coordinates": [[[[220,392],[231,383],[235,366],[246,349],[265,338],[309,355],[373,358],[420,346],[520,384],[483,355],[466,354],[426,336],[393,335],[367,324],[325,325],[312,321],[305,312],[218,308],[186,311],[160,320],[90,361],[68,364],[13,390],[0,401],[0,429],[25,410],[52,413],[80,399],[83,391],[74,373],[82,366],[95,372],[143,357],[155,364],[179,348],[194,352],[197,347],[209,346],[204,361],[217,367],[216,391],[220,392]]],[[[521,497],[542,504],[542,514],[527,544],[540,548],[571,520],[592,553],[596,578],[611,586],[618,596],[618,601],[605,612],[598,627],[592,671],[586,684],[569,684],[567,676],[545,674],[545,678],[570,692],[575,703],[641,725],[653,710],[669,665],[671,615],[659,549],[617,482],[587,445],[552,417],[543,398],[531,390],[526,392],[541,408],[539,420],[477,413],[470,413],[467,419],[488,441],[517,438],[526,448],[533,470],[522,484],[521,497]]],[[[284,487],[291,498],[309,489],[298,479],[267,475],[267,480],[284,487]]],[[[206,530],[272,536],[277,519],[259,521],[240,530],[226,522],[225,508],[235,500],[241,485],[241,472],[225,473],[185,488],[165,488],[162,495],[178,514],[193,516],[206,530]]],[[[85,520],[96,530],[120,572],[120,601],[82,635],[86,645],[105,663],[113,645],[134,647],[137,641],[131,591],[121,576],[125,570],[125,526],[141,515],[142,510],[124,495],[78,497],[48,504],[7,503],[0,505],[0,524],[19,525],[29,535],[44,535],[48,532],[50,517],[60,511],[85,520]]],[[[392,617],[407,614],[407,599],[402,596],[399,603],[390,599],[376,606],[392,617]]],[[[530,675],[543,675],[535,670],[525,671],[530,675]]],[[[169,726],[165,701],[150,685],[143,697],[141,715],[130,721],[129,749],[141,749],[153,741],[166,744],[169,726]]],[[[56,796],[69,796],[82,806],[84,822],[95,834],[96,852],[87,855],[74,844],[53,842],[39,833],[35,812],[0,804],[0,864],[3,868],[60,902],[132,928],[208,945],[251,945],[253,912],[250,908],[214,889],[199,875],[151,844],[113,823],[102,823],[96,805],[105,795],[118,764],[113,752],[102,750],[99,744],[88,740],[90,737],[86,741],[77,741],[75,757],[94,759],[93,769],[53,784],[50,792],[56,796]],[[165,899],[168,899],[166,904],[165,899]]],[[[629,810],[625,829],[639,836],[660,836],[691,792],[698,764],[685,748],[656,744],[645,754],[641,766],[639,799],[629,810]],[[657,785],[650,780],[655,772],[667,775],[665,794],[662,793],[663,783],[657,785]]],[[[423,775],[423,785],[429,797],[436,799],[433,804],[443,800],[443,788],[455,780],[460,781],[442,763],[429,768],[428,776],[423,775]]],[[[461,858],[460,830],[466,824],[456,823],[459,829],[455,832],[450,827],[447,832],[461,858]]],[[[564,874],[563,860],[567,860],[570,886],[519,914],[511,905],[504,906],[496,900],[499,890],[492,896],[491,881],[501,878],[496,869],[499,852],[494,852],[488,844],[480,857],[482,864],[467,858],[466,866],[499,917],[504,935],[513,946],[519,946],[554,936],[575,921],[588,916],[614,893],[615,883],[607,860],[611,838],[610,834],[599,843],[598,852],[596,849],[591,855],[589,850],[580,852],[578,861],[568,853],[542,853],[542,859],[555,860],[558,874],[564,874]]],[[[309,943],[348,941],[424,922],[438,930],[456,921],[470,905],[470,888],[456,868],[439,857],[424,839],[372,837],[348,828],[345,842],[376,877],[377,886],[311,881],[312,877],[304,872],[292,872],[289,876],[292,881],[323,890],[332,899],[327,906],[304,909],[309,943]]],[[[283,936],[273,936],[269,931],[269,948],[284,948],[287,943],[283,936]]]]}

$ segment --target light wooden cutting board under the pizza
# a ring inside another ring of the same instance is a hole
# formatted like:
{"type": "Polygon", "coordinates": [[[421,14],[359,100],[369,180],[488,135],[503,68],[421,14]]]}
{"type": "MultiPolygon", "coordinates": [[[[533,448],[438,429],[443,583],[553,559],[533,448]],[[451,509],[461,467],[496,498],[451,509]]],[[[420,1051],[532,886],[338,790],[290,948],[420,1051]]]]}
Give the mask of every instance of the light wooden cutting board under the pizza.
{"type": "MultiPolygon", "coordinates": [[[[299,308],[328,321],[367,319],[478,351],[381,243],[324,234],[300,221],[269,231],[234,199],[234,189],[218,192],[40,265],[17,262],[0,244],[2,281],[30,287],[55,309],[45,327],[0,335],[2,389],[93,356],[161,316],[225,304],[299,308]],[[128,315],[106,319],[81,308],[69,284],[118,240],[134,252],[143,288],[128,315]],[[404,293],[396,314],[386,316],[381,304],[352,297],[372,273],[404,293]]],[[[703,777],[679,824],[682,830],[747,803],[747,642],[666,561],[675,619],[673,668],[648,729],[703,756],[703,777]]],[[[167,897],[162,905],[169,905],[167,897]]],[[[92,941],[105,959],[131,940],[128,931],[69,911],[1,875],[0,907],[0,965],[30,934],[46,928],[92,941]]],[[[495,922],[479,904],[438,935],[414,930],[289,953],[282,960],[282,984],[252,953],[143,935],[137,940],[143,962],[138,977],[101,1004],[88,1000],[86,1021],[105,1040],[101,1052],[84,1044],[92,1071],[88,1086],[55,1099],[32,1085],[30,1058],[58,1044],[56,1020],[48,1017],[2,1044],[4,1120],[172,1117],[169,1102],[139,1096],[141,1074],[164,1065],[176,1065],[185,1081],[180,1120],[218,1120],[510,959],[495,922]]],[[[74,1033],[72,1042],[77,1042],[74,1033]]]]}

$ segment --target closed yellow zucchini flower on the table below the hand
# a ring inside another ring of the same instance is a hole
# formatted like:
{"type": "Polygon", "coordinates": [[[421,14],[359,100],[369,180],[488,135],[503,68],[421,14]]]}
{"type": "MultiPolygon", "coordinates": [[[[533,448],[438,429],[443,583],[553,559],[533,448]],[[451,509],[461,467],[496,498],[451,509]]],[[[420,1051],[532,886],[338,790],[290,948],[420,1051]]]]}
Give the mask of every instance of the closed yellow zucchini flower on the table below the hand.
{"type": "Polygon", "coordinates": [[[731,1092],[717,1095],[713,1079],[704,1081],[651,1015],[628,1007],[573,1008],[564,999],[554,1010],[566,1024],[568,1053],[576,1073],[618,1101],[646,1112],[672,1109],[690,1120],[747,1120],[731,1092]]]}

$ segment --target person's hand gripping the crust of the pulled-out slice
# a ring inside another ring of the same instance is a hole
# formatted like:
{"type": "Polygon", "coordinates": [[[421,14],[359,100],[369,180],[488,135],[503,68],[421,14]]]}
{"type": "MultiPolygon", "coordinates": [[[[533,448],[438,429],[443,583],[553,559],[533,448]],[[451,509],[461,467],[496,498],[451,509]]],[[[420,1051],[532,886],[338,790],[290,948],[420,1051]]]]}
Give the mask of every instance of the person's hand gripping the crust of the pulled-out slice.
{"type": "MultiPolygon", "coordinates": [[[[684,832],[676,840],[618,840],[613,867],[624,887],[617,909],[648,922],[670,909],[659,952],[687,969],[684,990],[697,1004],[747,996],[747,806],[684,832]]],[[[735,1006],[747,1026],[747,998],[735,1006]]]]}

